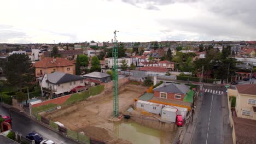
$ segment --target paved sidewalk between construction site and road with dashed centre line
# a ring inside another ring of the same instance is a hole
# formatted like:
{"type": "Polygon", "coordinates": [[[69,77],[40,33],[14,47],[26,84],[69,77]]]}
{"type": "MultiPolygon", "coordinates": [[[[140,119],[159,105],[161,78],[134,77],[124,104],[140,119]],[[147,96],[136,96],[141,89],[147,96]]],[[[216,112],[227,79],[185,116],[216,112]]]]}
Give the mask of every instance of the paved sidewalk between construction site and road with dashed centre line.
{"type": "Polygon", "coordinates": [[[196,101],[195,101],[195,112],[194,112],[194,117],[193,117],[193,122],[189,122],[189,125],[187,126],[187,130],[185,131],[185,134],[183,135],[183,144],[190,144],[193,138],[193,133],[195,131],[196,123],[197,123],[197,118],[200,115],[201,111],[201,105],[202,105],[202,100],[203,100],[203,94],[200,96],[198,95],[196,101]]]}

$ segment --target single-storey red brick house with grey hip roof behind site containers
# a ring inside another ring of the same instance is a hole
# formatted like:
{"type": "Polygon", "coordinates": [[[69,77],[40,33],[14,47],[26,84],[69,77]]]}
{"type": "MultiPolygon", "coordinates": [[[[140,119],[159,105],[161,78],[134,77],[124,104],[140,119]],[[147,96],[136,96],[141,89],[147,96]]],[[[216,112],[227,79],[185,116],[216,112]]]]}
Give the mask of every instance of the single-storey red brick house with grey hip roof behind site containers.
{"type": "Polygon", "coordinates": [[[176,83],[162,83],[153,89],[154,97],[162,99],[172,99],[183,101],[185,95],[189,92],[189,86],[176,83]]]}

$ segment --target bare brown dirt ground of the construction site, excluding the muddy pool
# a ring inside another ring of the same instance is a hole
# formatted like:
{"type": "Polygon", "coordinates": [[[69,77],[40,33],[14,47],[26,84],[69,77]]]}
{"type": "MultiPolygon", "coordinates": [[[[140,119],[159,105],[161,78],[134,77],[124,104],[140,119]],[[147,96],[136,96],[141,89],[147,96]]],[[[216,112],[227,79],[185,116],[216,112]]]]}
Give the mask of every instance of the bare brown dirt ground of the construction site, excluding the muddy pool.
{"type": "MultiPolygon", "coordinates": [[[[130,105],[133,105],[133,99],[138,98],[146,89],[141,85],[121,86],[119,88],[120,113],[125,112],[130,105]]],[[[112,92],[109,92],[63,107],[46,114],[45,117],[60,122],[69,129],[84,131],[94,139],[106,140],[108,143],[130,143],[115,138],[114,124],[108,121],[112,115],[113,95],[112,92]]]]}

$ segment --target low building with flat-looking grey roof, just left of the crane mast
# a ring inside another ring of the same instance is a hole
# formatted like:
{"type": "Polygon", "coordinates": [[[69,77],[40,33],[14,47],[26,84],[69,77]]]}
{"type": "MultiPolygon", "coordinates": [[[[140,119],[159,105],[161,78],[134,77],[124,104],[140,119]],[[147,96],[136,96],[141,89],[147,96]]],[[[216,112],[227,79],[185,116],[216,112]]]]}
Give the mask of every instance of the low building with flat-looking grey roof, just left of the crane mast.
{"type": "Polygon", "coordinates": [[[85,79],[92,79],[92,80],[97,80],[97,81],[100,81],[100,82],[109,82],[109,81],[111,81],[111,76],[109,74],[101,73],[101,72],[97,72],[97,71],[94,71],[92,73],[83,75],[83,77],[85,79]]]}

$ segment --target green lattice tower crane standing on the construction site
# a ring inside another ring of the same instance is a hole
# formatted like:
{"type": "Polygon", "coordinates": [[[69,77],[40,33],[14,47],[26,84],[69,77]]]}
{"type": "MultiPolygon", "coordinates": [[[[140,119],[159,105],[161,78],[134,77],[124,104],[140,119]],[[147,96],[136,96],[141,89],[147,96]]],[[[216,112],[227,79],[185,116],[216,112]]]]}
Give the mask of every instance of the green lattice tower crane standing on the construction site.
{"type": "Polygon", "coordinates": [[[114,117],[119,116],[119,104],[118,104],[118,43],[117,32],[114,31],[113,50],[112,50],[112,73],[113,73],[113,114],[114,117]]]}

